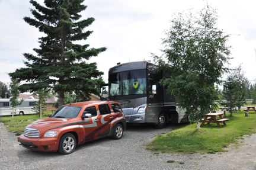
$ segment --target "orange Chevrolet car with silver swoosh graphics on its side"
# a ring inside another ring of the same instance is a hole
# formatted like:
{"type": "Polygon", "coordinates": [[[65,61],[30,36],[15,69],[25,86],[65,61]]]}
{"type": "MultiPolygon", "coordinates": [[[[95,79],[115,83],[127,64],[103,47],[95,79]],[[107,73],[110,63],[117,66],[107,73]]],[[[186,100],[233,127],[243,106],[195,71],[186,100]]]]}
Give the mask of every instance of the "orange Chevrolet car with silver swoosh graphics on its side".
{"type": "Polygon", "coordinates": [[[63,105],[52,116],[28,124],[18,142],[27,149],[69,154],[76,145],[101,137],[121,139],[125,129],[118,102],[78,102],[63,105]]]}

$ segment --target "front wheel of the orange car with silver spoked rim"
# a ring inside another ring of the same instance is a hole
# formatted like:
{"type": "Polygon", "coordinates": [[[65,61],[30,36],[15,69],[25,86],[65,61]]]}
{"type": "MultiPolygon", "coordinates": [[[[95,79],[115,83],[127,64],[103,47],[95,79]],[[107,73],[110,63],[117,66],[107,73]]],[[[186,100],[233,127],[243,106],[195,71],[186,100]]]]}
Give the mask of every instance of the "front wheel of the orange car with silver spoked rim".
{"type": "Polygon", "coordinates": [[[66,133],[60,138],[58,152],[67,155],[72,153],[76,147],[76,138],[71,133],[66,133]]]}

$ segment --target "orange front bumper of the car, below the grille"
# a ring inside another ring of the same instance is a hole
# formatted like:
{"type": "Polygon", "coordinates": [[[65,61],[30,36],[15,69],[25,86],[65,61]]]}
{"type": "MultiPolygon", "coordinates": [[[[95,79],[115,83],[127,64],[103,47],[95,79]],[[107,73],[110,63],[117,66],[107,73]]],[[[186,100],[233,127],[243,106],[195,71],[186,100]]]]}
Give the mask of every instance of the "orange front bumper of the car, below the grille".
{"type": "Polygon", "coordinates": [[[50,152],[58,149],[57,138],[55,137],[34,138],[26,137],[24,134],[21,134],[21,136],[18,136],[18,142],[20,142],[23,147],[31,150],[50,152]]]}

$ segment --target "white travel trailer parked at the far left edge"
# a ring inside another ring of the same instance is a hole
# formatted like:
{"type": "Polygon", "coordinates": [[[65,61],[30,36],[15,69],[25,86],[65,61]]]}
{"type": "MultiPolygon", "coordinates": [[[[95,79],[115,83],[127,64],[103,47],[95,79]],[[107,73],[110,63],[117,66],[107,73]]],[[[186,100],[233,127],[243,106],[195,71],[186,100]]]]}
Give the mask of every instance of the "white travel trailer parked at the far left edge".
{"type": "MultiPolygon", "coordinates": [[[[20,102],[21,99],[18,99],[20,102]]],[[[14,115],[24,115],[24,114],[35,114],[34,110],[32,108],[36,105],[36,102],[38,102],[38,99],[25,99],[21,105],[17,105],[17,107],[14,108],[14,115]]],[[[0,99],[0,116],[11,116],[12,115],[12,107],[11,102],[9,101],[9,98],[7,99],[0,99]]]]}

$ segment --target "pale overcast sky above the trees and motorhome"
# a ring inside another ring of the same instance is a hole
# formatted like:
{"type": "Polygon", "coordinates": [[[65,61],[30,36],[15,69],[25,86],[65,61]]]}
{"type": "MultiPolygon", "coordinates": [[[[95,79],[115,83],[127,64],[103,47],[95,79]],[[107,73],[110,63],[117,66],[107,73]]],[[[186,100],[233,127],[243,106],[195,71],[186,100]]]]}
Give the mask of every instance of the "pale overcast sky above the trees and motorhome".
{"type": "MultiPolygon", "coordinates": [[[[43,4],[43,0],[38,0],[43,4]]],[[[232,46],[230,68],[242,63],[249,81],[256,79],[256,1],[209,0],[217,9],[220,30],[231,34],[228,45],[232,46]]],[[[95,21],[86,28],[94,33],[84,41],[91,47],[107,47],[107,51],[89,62],[97,62],[107,82],[108,69],[117,62],[152,60],[151,53],[161,55],[164,31],[174,12],[193,8],[200,11],[203,0],[85,0],[87,9],[82,17],[94,17],[95,21]]],[[[29,0],[0,0],[0,81],[8,83],[9,72],[23,68],[23,53],[34,53],[39,47],[38,38],[43,36],[38,29],[28,25],[23,17],[30,16],[34,8],[29,0]]],[[[35,53],[34,53],[35,54],[35,53]]]]}

